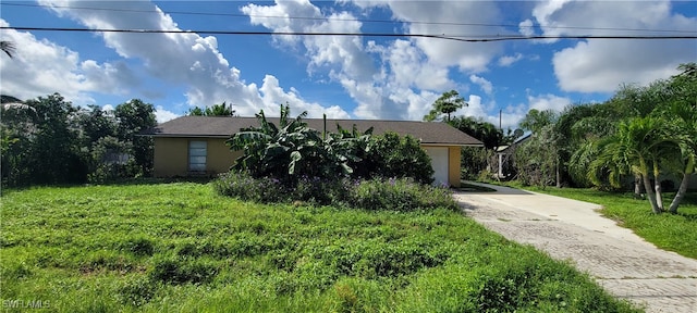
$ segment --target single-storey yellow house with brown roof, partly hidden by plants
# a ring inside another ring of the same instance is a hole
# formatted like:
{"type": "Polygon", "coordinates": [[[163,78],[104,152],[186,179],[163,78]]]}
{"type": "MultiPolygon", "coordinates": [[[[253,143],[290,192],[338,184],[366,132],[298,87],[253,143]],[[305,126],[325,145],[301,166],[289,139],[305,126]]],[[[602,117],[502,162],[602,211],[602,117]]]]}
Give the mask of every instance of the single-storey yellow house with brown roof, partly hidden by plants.
{"type": "MultiPolygon", "coordinates": [[[[279,118],[269,118],[278,125],[279,118]]],[[[305,118],[315,129],[325,129],[325,120],[305,118]]],[[[445,124],[413,121],[359,121],[327,120],[327,130],[335,132],[337,125],[365,132],[374,127],[374,135],[394,132],[420,139],[421,147],[432,160],[437,184],[460,186],[460,149],[464,146],[481,147],[482,143],[467,134],[445,124]]],[[[146,130],[143,135],[155,140],[156,177],[215,175],[230,170],[241,151],[231,151],[225,145],[241,128],[257,127],[256,117],[182,116],[146,130]]]]}

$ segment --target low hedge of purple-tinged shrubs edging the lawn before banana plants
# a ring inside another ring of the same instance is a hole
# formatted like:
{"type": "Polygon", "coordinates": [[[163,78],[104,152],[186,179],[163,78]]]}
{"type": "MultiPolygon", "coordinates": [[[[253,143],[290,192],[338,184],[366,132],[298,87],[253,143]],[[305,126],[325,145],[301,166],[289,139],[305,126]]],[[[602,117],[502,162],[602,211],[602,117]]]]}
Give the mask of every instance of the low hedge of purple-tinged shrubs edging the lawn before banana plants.
{"type": "Polygon", "coordinates": [[[276,178],[254,178],[233,171],[220,175],[212,185],[219,195],[258,203],[294,202],[402,212],[439,208],[457,210],[449,189],[417,184],[412,178],[302,177],[294,188],[288,188],[276,178]]]}

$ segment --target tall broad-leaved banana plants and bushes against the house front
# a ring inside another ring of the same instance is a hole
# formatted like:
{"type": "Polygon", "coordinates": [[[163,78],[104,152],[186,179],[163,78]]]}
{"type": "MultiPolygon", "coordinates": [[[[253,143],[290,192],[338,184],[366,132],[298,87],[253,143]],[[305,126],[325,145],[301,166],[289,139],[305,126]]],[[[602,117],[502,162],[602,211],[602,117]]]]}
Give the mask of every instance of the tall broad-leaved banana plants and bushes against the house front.
{"type": "Polygon", "coordinates": [[[433,170],[426,151],[413,137],[387,133],[372,137],[372,129],[360,134],[339,127],[338,133],[320,133],[307,127],[303,117],[291,120],[288,105],[281,107],[279,126],[264,111],[256,114],[259,125],[241,129],[228,140],[231,150],[242,151],[234,171],[252,177],[271,177],[294,188],[301,177],[333,180],[341,178],[413,177],[430,184],[433,170]],[[354,171],[354,168],[357,168],[354,171]]]}

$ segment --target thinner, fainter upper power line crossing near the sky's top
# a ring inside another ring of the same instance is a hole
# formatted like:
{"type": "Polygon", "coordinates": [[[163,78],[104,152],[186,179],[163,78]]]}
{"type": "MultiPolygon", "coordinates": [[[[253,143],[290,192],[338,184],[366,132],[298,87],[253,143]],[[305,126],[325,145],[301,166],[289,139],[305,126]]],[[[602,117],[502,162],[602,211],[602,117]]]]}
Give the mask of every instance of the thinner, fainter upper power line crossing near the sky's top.
{"type": "MultiPolygon", "coordinates": [[[[94,7],[70,7],[70,5],[44,5],[35,3],[4,3],[0,2],[0,5],[12,7],[33,7],[33,8],[59,8],[59,9],[72,9],[72,10],[93,10],[93,11],[111,11],[111,12],[132,12],[132,13],[159,13],[156,10],[135,10],[135,9],[115,9],[115,8],[94,8],[94,7]]],[[[182,14],[182,15],[205,15],[205,16],[231,16],[231,17],[260,17],[260,18],[288,18],[288,20],[306,20],[306,21],[342,21],[342,22],[362,22],[362,23],[407,23],[407,24],[421,24],[421,25],[448,25],[448,26],[480,26],[480,27],[523,27],[535,28],[536,26],[521,26],[513,24],[486,24],[486,23],[457,23],[457,22],[424,22],[424,21],[394,21],[394,20],[370,20],[370,18],[329,18],[329,17],[313,17],[313,16],[280,16],[280,15],[258,15],[258,14],[236,14],[236,13],[212,13],[212,12],[192,12],[192,11],[167,11],[167,14],[182,14]]],[[[586,30],[622,30],[622,32],[653,32],[653,33],[686,33],[695,34],[694,30],[678,30],[678,29],[649,29],[649,28],[623,28],[623,27],[583,27],[583,26],[546,26],[538,25],[540,28],[550,29],[586,29],[586,30]]]]}

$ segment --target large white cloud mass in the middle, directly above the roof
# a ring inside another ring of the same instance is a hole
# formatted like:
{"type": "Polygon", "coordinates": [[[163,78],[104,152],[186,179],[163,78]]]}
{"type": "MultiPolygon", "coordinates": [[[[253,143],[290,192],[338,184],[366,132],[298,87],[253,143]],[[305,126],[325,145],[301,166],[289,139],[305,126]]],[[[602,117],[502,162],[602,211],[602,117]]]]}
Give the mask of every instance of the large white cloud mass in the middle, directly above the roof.
{"type": "MultiPolygon", "coordinates": [[[[496,5],[487,3],[449,2],[433,5],[427,2],[352,2],[363,10],[388,8],[396,21],[458,21],[477,16],[491,22],[498,17],[496,5]],[[480,12],[473,13],[472,10],[480,12]],[[433,17],[433,18],[432,18],[433,17]]],[[[347,3],[344,3],[347,5],[347,3]]],[[[363,24],[348,11],[322,12],[308,1],[276,1],[270,5],[247,4],[241,11],[249,15],[253,25],[272,32],[334,32],[362,33],[363,24]],[[267,18],[262,16],[311,16],[320,20],[267,18]]],[[[404,24],[411,34],[455,34],[466,27],[404,24]]],[[[451,25],[452,26],[452,25],[451,25]]],[[[356,102],[353,114],[360,118],[421,120],[430,105],[444,90],[466,89],[449,77],[451,66],[462,71],[484,71],[494,58],[500,45],[467,45],[447,40],[374,40],[364,42],[355,36],[277,36],[282,45],[290,45],[308,60],[308,73],[327,73],[356,102]],[[477,46],[477,47],[475,47],[477,46]]],[[[486,80],[486,79],[485,79],[486,80]]],[[[490,83],[484,80],[486,90],[490,83]]]]}

